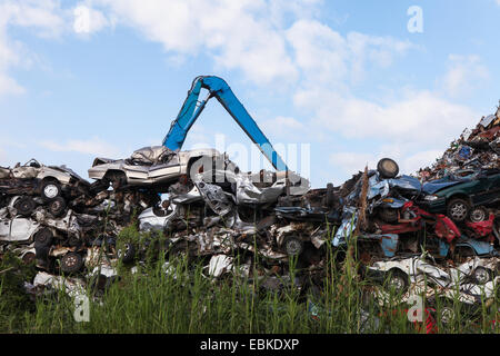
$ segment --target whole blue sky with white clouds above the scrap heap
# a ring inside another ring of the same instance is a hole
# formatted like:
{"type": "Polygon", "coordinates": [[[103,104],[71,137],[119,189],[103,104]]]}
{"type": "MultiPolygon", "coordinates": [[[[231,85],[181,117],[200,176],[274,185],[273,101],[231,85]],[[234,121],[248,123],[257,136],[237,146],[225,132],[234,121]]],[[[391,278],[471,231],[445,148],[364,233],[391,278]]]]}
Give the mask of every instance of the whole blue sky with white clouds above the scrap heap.
{"type": "MultiPolygon", "coordinates": [[[[314,187],[382,157],[411,172],[496,111],[499,17],[497,0],[0,0],[0,166],[87,177],[160,145],[193,78],[217,75],[274,146],[309,145],[309,165],[284,159],[314,187]]],[[[183,148],[217,139],[261,168],[213,100],[183,148]]]]}

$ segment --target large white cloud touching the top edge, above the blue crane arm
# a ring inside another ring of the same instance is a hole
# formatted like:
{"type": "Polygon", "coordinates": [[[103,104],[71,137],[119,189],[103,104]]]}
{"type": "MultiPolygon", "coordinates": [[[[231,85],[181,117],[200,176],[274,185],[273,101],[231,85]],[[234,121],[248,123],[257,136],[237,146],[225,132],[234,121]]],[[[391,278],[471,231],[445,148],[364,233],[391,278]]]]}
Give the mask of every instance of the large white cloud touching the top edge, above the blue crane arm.
{"type": "MultiPolygon", "coordinates": [[[[253,81],[291,81],[297,69],[262,0],[98,0],[119,23],[140,30],[173,55],[206,51],[218,67],[253,81]]],[[[278,21],[279,22],[279,21],[278,21]]]]}

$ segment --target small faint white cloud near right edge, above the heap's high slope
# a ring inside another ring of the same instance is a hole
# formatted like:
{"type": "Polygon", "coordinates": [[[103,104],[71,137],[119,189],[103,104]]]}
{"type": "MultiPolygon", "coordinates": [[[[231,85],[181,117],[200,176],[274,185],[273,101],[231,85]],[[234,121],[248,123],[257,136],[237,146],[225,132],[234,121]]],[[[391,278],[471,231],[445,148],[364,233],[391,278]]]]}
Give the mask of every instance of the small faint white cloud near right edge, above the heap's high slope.
{"type": "Polygon", "coordinates": [[[468,95],[490,78],[488,68],[481,63],[479,56],[450,55],[448,67],[448,72],[439,83],[450,97],[468,95]]]}

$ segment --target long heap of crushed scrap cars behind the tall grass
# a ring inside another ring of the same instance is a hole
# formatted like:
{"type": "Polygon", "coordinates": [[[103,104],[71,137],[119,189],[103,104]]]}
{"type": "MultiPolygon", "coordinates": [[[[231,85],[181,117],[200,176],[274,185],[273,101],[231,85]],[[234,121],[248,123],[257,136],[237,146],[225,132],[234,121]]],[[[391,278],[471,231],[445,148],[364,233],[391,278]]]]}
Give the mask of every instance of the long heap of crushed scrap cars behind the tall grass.
{"type": "Polygon", "coordinates": [[[144,239],[163,236],[158,248],[167,257],[201,258],[213,277],[276,278],[269,284],[276,288],[291,260],[300,283],[321,286],[328,250],[341,259],[353,239],[364,277],[402,293],[426,279],[440,295],[460,289],[473,304],[484,286],[493,290],[500,267],[499,130],[499,112],[481,119],[420,179],[398,176],[398,165],[384,158],[322,189],[291,171],[242,172],[211,149],[158,146],[128,159],[97,158],[92,184],[33,159],[0,168],[0,251],[36,260],[30,288],[60,286],[59,275],[68,274],[84,284],[99,266],[111,278],[118,259],[140,261],[133,241],[118,240],[137,224],[144,239]]]}

